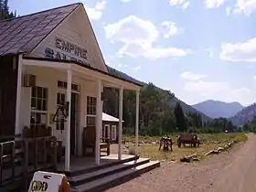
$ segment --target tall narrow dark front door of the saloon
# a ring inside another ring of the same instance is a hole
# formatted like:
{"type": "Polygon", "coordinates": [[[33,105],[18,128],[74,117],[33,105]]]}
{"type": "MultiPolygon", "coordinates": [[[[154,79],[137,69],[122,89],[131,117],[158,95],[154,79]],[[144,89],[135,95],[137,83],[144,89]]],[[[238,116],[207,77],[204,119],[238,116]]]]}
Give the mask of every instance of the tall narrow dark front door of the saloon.
{"type": "Polygon", "coordinates": [[[78,154],[79,94],[71,93],[70,109],[70,155],[78,154]]]}

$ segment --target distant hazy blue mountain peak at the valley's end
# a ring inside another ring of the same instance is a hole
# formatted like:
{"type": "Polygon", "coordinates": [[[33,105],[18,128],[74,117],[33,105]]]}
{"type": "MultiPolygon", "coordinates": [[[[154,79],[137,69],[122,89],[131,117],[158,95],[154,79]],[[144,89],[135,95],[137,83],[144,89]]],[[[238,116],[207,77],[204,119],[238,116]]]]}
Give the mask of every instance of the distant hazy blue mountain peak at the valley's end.
{"type": "Polygon", "coordinates": [[[203,112],[211,118],[229,118],[244,109],[239,102],[223,102],[223,101],[202,101],[192,105],[197,111],[203,112]]]}

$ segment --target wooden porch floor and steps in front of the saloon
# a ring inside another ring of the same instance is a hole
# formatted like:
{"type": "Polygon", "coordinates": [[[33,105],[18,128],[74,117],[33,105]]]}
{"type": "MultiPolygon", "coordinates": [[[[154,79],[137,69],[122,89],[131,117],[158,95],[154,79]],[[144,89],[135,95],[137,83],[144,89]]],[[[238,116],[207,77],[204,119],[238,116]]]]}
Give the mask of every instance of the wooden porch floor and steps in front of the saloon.
{"type": "Polygon", "coordinates": [[[109,155],[101,157],[101,165],[95,165],[93,158],[71,157],[70,166],[73,170],[64,173],[68,176],[71,191],[100,192],[159,167],[160,162],[136,155],[122,155],[122,160],[118,160],[118,155],[109,155]]]}

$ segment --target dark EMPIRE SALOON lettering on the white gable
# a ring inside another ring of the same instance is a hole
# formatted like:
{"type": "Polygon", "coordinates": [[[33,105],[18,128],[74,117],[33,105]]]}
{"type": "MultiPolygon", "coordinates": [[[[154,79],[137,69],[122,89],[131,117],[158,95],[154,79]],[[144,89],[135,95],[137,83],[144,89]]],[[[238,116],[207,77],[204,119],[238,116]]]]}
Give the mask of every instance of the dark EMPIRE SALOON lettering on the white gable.
{"type": "Polygon", "coordinates": [[[74,60],[88,65],[85,61],[87,60],[86,49],[80,48],[79,46],[59,37],[55,38],[55,48],[57,49],[45,48],[45,57],[47,59],[74,60]]]}

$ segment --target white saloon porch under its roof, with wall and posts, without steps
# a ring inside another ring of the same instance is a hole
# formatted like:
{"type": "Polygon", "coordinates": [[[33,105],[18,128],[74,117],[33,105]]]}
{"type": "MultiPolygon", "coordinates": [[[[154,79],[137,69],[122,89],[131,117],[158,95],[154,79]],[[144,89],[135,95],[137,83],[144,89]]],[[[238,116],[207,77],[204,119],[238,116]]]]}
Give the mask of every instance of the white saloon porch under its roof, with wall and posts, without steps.
{"type": "Polygon", "coordinates": [[[101,157],[103,87],[117,88],[120,95],[119,147],[118,154],[114,155],[116,157],[114,161],[122,161],[125,158],[122,155],[123,90],[136,91],[136,124],[134,127],[136,134],[135,155],[138,155],[139,91],[141,86],[75,61],[19,57],[16,134],[22,133],[25,126],[30,129],[50,126],[52,128],[51,134],[56,136],[65,148],[64,165],[59,166],[62,171],[63,168],[66,172],[82,168],[78,162],[88,163],[83,164],[84,166],[92,166],[93,163],[94,165],[105,164],[112,159],[113,155],[108,158],[101,157]],[[25,86],[24,75],[32,75],[35,78],[34,83],[32,82],[32,85],[28,83],[25,86]],[[61,83],[63,87],[59,88],[61,83]],[[35,87],[38,87],[39,91],[40,89],[42,92],[46,91],[47,97],[44,98],[44,93],[41,93],[38,99],[37,93],[33,91],[35,87]],[[76,90],[76,88],[78,89],[76,90]],[[58,99],[56,100],[56,98],[58,99]],[[41,101],[41,109],[37,109],[37,101],[41,101]],[[34,102],[36,102],[35,106],[34,102]],[[65,114],[62,116],[57,110],[59,106],[65,109],[63,111],[65,114]],[[56,116],[61,121],[53,121],[56,116]],[[90,131],[86,133],[85,130],[90,131]],[[85,159],[82,156],[88,143],[91,144],[91,153],[94,157],[85,159]]]}

